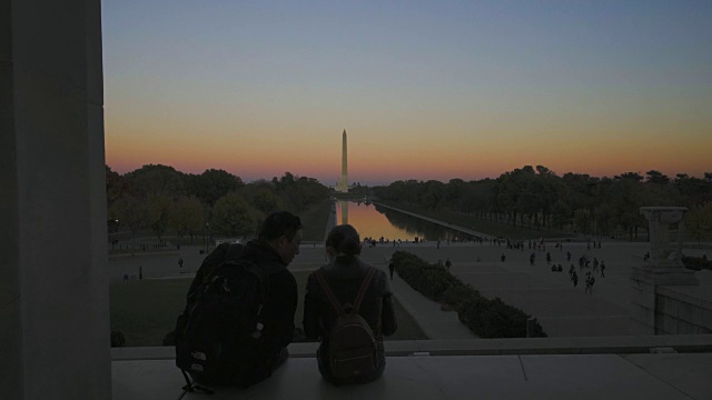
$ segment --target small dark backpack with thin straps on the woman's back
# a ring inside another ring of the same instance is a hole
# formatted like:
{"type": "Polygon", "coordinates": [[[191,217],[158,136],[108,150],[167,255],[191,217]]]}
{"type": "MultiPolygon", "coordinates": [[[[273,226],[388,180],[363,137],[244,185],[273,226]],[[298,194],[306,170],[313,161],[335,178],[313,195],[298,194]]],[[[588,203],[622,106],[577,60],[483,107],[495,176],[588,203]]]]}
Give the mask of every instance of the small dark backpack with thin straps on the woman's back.
{"type": "Polygon", "coordinates": [[[356,381],[360,377],[372,374],[377,369],[377,347],[374,331],[368,322],[358,314],[358,309],[375,272],[376,269],[370,267],[353,306],[350,303],[342,306],[322,271],[316,270],[315,273],[338,316],[329,330],[329,366],[334,378],[344,382],[356,381]]]}

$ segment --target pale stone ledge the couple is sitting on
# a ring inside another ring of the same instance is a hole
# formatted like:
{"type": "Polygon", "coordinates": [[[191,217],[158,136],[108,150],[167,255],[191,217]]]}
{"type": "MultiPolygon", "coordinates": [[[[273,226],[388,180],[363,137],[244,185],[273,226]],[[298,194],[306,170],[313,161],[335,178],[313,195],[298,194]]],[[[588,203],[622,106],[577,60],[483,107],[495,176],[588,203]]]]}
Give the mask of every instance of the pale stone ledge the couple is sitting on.
{"type": "MultiPolygon", "coordinates": [[[[289,359],[249,389],[215,388],[220,399],[708,399],[712,354],[395,357],[368,384],[335,387],[314,358],[289,359]],[[675,374],[676,373],[676,374],[675,374]]],[[[205,399],[184,393],[170,360],[112,362],[115,400],[205,399]]]]}

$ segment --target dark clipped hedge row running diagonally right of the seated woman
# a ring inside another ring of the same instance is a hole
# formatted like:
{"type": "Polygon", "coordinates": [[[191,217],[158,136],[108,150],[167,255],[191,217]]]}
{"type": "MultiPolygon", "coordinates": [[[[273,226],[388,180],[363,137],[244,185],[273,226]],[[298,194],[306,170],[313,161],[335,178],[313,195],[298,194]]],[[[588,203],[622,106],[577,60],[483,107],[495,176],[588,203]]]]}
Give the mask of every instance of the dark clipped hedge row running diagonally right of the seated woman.
{"type": "MultiPolygon", "coordinates": [[[[443,267],[412,253],[397,251],[393,262],[398,277],[426,298],[442,303],[444,309],[457,311],[459,320],[479,338],[526,338],[526,321],[531,316],[524,311],[500,298],[484,298],[443,267]]],[[[536,319],[530,329],[530,337],[546,337],[536,319]]]]}

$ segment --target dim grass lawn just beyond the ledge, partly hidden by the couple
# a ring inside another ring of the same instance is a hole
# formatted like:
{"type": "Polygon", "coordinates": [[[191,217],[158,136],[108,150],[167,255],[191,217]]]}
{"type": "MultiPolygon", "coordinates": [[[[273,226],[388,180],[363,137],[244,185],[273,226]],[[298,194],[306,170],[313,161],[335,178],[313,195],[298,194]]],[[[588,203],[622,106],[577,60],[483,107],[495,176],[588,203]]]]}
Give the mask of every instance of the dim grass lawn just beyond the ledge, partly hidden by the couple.
{"type": "MultiPolygon", "coordinates": [[[[299,288],[295,326],[301,327],[304,290],[308,271],[293,272],[299,288]]],[[[162,346],[186,304],[192,279],[145,279],[110,287],[111,330],[120,331],[127,347],[162,346]]],[[[396,301],[398,331],[390,340],[427,339],[413,317],[396,301]]]]}

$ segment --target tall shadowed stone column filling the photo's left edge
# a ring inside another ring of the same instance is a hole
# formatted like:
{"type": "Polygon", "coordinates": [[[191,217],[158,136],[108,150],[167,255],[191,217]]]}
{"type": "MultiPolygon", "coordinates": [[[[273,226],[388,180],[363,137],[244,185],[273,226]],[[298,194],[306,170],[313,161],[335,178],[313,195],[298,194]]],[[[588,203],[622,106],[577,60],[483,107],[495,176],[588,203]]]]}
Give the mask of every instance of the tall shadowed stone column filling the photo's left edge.
{"type": "Polygon", "coordinates": [[[0,2],[0,398],[110,399],[100,0],[0,2]]]}

